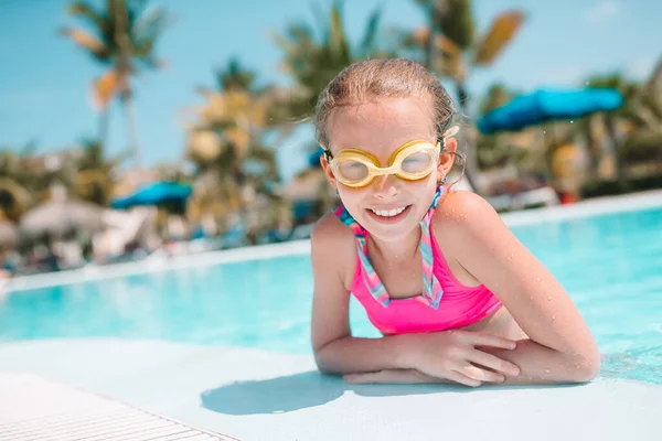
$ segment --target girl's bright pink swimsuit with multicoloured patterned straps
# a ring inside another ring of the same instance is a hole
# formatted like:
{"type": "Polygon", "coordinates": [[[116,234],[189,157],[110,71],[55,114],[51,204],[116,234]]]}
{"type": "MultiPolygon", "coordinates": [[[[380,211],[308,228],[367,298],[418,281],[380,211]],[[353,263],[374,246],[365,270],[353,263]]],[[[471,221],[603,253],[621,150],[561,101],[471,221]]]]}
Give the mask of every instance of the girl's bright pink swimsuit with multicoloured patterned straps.
{"type": "Polygon", "coordinates": [[[383,334],[444,331],[467,326],[501,308],[501,301],[484,286],[466,287],[451,273],[435,239],[431,220],[444,192],[439,187],[426,216],[420,220],[424,292],[409,299],[391,299],[367,257],[367,230],[341,205],[335,215],[356,237],[356,270],[352,294],[370,321],[383,334]]]}

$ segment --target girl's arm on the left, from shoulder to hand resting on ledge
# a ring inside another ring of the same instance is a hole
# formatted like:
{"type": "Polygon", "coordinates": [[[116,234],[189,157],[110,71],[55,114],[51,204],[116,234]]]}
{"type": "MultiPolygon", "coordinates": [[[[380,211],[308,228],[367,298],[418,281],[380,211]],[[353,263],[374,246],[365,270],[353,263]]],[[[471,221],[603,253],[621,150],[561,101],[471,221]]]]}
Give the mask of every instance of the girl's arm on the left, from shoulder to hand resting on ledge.
{"type": "Polygon", "coordinates": [[[427,374],[417,376],[418,380],[446,378],[469,386],[478,386],[481,381],[501,383],[505,375],[519,373],[516,366],[476,349],[477,345],[504,351],[515,346],[514,342],[494,335],[440,332],[381,338],[352,337],[349,300],[356,249],[351,232],[335,217],[324,216],[316,225],[311,237],[311,259],[314,275],[311,338],[314,359],[321,372],[361,374],[416,367],[427,374]],[[471,361],[480,362],[494,372],[473,367],[471,361]],[[466,367],[469,370],[465,370],[466,367]]]}

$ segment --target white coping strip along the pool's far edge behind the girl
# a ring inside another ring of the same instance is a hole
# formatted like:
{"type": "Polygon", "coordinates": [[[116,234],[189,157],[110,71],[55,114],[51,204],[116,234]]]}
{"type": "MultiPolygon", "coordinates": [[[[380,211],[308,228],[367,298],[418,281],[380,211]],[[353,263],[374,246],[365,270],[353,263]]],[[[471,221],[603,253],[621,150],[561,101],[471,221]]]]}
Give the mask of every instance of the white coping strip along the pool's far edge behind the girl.
{"type": "MultiPolygon", "coordinates": [[[[662,190],[620,196],[597,197],[581,201],[572,205],[557,205],[553,207],[503,213],[501,218],[506,225],[514,227],[655,207],[662,207],[662,190]]],[[[159,257],[148,258],[146,260],[136,262],[115,263],[108,266],[88,266],[76,270],[15,277],[6,282],[4,291],[25,291],[81,283],[84,281],[168,271],[180,268],[270,259],[282,256],[305,255],[309,252],[310,240],[293,240],[281,244],[268,244],[221,251],[201,252],[190,256],[174,256],[168,259],[159,257]]],[[[1,292],[2,288],[0,287],[0,293],[1,292]]]]}

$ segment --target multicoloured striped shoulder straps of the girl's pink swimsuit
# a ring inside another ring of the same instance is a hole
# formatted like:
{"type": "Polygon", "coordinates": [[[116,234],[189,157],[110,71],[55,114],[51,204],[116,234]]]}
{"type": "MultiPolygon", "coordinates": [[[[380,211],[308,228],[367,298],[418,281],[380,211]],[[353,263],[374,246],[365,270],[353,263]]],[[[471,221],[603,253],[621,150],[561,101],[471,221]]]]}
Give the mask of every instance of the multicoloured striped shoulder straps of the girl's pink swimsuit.
{"type": "MultiPolygon", "coordinates": [[[[424,292],[423,295],[417,295],[414,299],[434,309],[439,306],[439,301],[444,295],[444,289],[433,271],[434,254],[430,238],[430,224],[435,214],[435,209],[437,208],[437,203],[439,202],[439,197],[442,193],[444,187],[439,186],[435,193],[435,197],[433,198],[433,203],[430,204],[428,212],[419,222],[420,244],[418,248],[420,249],[420,256],[423,258],[424,292]]],[[[335,208],[334,214],[340,220],[342,220],[343,224],[352,228],[354,232],[354,237],[356,238],[356,250],[359,251],[359,259],[361,260],[361,265],[363,267],[363,281],[370,293],[372,294],[373,299],[375,299],[384,308],[388,306],[391,298],[388,297],[384,283],[382,283],[382,280],[375,272],[367,257],[367,239],[365,229],[359,225],[359,223],[352,217],[352,215],[343,205],[340,205],[338,208],[335,208]]]]}

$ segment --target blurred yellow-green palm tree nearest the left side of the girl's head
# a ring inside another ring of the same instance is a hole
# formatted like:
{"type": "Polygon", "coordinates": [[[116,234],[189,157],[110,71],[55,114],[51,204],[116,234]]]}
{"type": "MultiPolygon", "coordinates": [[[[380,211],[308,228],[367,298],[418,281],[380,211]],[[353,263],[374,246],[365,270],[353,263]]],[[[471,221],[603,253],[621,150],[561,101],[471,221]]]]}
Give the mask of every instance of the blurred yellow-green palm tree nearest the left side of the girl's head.
{"type": "MultiPolygon", "coordinates": [[[[236,58],[215,76],[218,89],[199,89],[205,104],[194,110],[195,118],[188,125],[186,157],[195,165],[200,183],[190,212],[194,222],[204,214],[218,217],[223,212],[237,212],[246,220],[256,201],[267,198],[274,211],[280,204],[274,191],[278,181],[275,150],[265,143],[273,129],[269,110],[275,89],[258,88],[255,74],[236,58]]],[[[260,216],[273,217],[268,213],[260,216]]],[[[255,236],[256,229],[265,227],[253,225],[248,233],[255,236]]]]}

